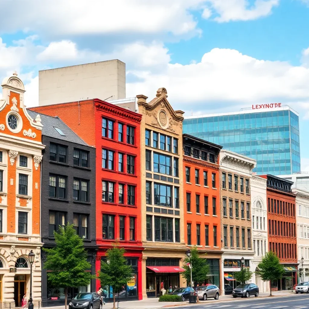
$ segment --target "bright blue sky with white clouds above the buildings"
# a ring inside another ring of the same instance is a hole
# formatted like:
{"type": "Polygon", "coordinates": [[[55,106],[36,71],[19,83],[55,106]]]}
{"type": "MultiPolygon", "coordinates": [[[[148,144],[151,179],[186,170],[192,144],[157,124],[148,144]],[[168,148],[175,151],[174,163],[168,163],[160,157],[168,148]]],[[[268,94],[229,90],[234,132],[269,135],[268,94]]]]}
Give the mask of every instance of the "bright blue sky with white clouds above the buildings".
{"type": "Polygon", "coordinates": [[[165,87],[185,115],[289,105],[309,171],[309,0],[0,0],[0,12],[0,81],[16,70],[28,107],[39,70],[119,59],[127,97],[165,87]]]}

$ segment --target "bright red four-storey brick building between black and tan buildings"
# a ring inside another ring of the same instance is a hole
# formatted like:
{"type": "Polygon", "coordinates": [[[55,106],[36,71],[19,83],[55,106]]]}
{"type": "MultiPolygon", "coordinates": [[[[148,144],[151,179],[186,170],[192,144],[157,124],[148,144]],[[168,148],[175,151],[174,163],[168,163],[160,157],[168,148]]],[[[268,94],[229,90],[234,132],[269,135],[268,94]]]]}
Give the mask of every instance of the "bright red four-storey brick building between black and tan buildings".
{"type": "MultiPolygon", "coordinates": [[[[142,116],[101,101],[84,100],[33,108],[59,116],[85,142],[96,147],[96,269],[116,239],[135,274],[120,299],[142,299],[140,122],[142,116]]],[[[97,282],[97,289],[99,288],[97,282]]],[[[106,300],[112,300],[108,290],[106,300]]],[[[118,297],[118,293],[116,293],[118,297]]]]}

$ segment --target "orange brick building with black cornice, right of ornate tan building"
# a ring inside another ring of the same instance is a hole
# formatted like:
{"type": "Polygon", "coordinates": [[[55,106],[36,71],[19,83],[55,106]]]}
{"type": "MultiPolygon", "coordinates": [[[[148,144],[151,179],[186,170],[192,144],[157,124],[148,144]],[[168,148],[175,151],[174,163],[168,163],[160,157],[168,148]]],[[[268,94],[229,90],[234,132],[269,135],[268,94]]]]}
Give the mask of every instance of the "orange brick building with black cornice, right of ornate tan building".
{"type": "Polygon", "coordinates": [[[207,283],[223,289],[221,276],[221,218],[218,155],[222,146],[183,134],[184,239],[207,253],[207,283]]]}

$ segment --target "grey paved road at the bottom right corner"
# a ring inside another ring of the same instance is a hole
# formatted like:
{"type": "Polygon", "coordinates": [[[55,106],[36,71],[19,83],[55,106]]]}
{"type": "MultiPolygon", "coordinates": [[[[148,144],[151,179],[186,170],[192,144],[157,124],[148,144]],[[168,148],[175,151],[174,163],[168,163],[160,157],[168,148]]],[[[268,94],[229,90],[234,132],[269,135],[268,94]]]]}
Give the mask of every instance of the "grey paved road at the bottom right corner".
{"type": "MultiPolygon", "coordinates": [[[[176,309],[177,307],[175,307],[176,309]]],[[[272,298],[236,298],[231,301],[220,301],[208,303],[201,301],[199,305],[188,305],[178,307],[178,309],[309,309],[309,294],[292,294],[290,296],[272,298]]],[[[169,308],[171,309],[171,308],[169,308]]]]}

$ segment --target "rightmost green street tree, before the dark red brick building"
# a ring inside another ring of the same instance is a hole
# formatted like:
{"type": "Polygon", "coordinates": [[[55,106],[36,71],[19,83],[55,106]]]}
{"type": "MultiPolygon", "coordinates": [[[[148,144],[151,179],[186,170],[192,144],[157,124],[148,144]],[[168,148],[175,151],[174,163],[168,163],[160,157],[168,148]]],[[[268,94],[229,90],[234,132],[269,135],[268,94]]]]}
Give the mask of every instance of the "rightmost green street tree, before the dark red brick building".
{"type": "Polygon", "coordinates": [[[263,281],[269,281],[270,296],[273,296],[271,293],[271,281],[280,279],[285,272],[283,266],[279,263],[276,253],[273,251],[266,252],[257,267],[259,270],[256,271],[256,274],[263,281]]]}

